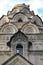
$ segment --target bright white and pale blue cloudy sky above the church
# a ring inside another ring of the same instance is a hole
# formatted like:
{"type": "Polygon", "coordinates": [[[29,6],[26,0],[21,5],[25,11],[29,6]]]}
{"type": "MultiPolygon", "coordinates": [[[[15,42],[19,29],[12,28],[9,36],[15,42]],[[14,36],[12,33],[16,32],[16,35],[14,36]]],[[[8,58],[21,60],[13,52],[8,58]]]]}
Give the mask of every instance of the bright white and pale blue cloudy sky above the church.
{"type": "Polygon", "coordinates": [[[7,12],[12,10],[16,4],[21,3],[30,5],[30,10],[33,10],[35,15],[39,15],[43,20],[43,0],[0,0],[0,17],[7,15],[7,12]]]}

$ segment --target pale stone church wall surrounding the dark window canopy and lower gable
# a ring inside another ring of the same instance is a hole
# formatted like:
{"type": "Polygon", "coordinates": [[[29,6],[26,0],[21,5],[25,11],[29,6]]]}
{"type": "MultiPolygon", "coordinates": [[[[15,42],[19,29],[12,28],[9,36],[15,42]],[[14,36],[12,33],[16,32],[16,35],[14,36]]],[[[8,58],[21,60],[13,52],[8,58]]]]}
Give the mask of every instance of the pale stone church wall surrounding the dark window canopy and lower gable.
{"type": "Polygon", "coordinates": [[[29,6],[25,4],[15,6],[12,11],[0,18],[0,65],[4,62],[3,60],[16,54],[15,47],[18,43],[24,46],[25,58],[34,65],[43,65],[43,23],[41,18],[30,11],[29,6]],[[21,39],[15,36],[16,42],[15,39],[11,41],[11,44],[14,44],[13,49],[7,46],[7,42],[18,30],[28,37],[28,42],[32,43],[30,48],[22,35],[21,39]]]}

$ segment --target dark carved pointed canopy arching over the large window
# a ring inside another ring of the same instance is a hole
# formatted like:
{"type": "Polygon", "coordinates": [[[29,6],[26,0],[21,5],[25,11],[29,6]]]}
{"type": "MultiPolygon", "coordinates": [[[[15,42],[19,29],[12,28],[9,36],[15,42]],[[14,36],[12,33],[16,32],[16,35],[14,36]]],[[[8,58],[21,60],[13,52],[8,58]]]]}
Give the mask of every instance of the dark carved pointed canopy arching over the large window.
{"type": "Polygon", "coordinates": [[[22,33],[20,30],[17,32],[17,33],[15,33],[12,37],[11,37],[11,39],[10,39],[10,41],[7,43],[7,45],[9,46],[9,47],[11,47],[11,45],[14,45],[14,42],[16,42],[16,41],[18,41],[19,40],[19,42],[21,42],[21,41],[24,41],[24,42],[28,42],[28,37],[24,34],[24,33],[22,33]]]}

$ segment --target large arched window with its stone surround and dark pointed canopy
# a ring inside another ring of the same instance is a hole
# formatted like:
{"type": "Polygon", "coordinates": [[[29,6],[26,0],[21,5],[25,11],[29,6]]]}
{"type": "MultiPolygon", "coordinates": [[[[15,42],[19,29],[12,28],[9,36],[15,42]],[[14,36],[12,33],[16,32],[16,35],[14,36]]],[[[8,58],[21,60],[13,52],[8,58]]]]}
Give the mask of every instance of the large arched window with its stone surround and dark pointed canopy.
{"type": "Polygon", "coordinates": [[[7,46],[12,49],[14,54],[20,53],[21,55],[24,56],[27,56],[27,49],[28,49],[27,45],[28,45],[28,37],[20,30],[17,33],[15,33],[11,37],[10,41],[7,43],[7,46]]]}

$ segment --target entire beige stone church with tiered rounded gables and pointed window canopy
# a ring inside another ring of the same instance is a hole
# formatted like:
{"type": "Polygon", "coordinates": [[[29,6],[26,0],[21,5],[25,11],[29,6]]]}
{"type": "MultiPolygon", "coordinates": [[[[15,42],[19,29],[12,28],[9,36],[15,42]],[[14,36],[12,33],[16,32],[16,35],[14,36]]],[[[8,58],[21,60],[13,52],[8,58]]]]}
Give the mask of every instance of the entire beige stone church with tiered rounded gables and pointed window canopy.
{"type": "Polygon", "coordinates": [[[29,5],[0,18],[0,65],[43,65],[43,21],[29,5]]]}

